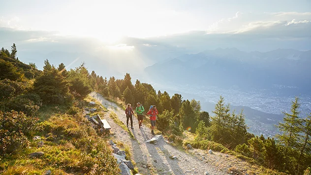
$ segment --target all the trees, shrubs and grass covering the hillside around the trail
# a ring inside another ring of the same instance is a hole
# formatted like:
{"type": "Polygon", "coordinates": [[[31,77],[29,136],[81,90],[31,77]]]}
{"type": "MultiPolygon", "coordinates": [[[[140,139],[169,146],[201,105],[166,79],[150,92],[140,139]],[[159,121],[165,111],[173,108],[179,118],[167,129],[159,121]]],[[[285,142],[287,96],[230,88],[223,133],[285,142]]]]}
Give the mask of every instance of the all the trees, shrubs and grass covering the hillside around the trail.
{"type": "MultiPolygon", "coordinates": [[[[14,51],[14,52],[13,52],[14,51]]],[[[42,174],[52,169],[55,174],[109,174],[120,170],[111,156],[105,137],[94,130],[82,116],[84,100],[91,91],[107,99],[119,99],[133,107],[140,102],[159,111],[157,129],[177,146],[190,143],[194,148],[213,149],[253,164],[279,172],[301,175],[310,172],[311,115],[299,116],[299,99],[291,112],[277,126],[280,135],[264,138],[248,133],[242,111],[230,110],[220,96],[213,114],[201,110],[200,101],[170,96],[151,84],[136,80],[129,73],[123,79],[103,78],[89,73],[85,64],[66,70],[48,60],[43,70],[26,65],[11,52],[0,51],[0,173],[3,175],[42,174]],[[184,134],[195,135],[187,140],[184,134]],[[33,136],[40,136],[38,140],[33,136]],[[40,140],[44,140],[44,146],[40,140]],[[41,157],[29,157],[42,151],[41,157]],[[91,173],[92,172],[92,173],[91,173]]]]}

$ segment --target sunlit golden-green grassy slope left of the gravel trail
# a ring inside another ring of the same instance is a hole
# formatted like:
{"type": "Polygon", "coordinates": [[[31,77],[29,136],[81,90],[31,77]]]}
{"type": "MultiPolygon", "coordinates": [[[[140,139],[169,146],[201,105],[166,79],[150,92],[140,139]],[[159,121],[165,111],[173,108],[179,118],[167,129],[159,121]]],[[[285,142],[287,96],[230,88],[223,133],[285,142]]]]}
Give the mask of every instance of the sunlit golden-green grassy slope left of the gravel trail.
{"type": "MultiPolygon", "coordinates": [[[[0,174],[42,175],[51,170],[53,175],[118,175],[120,170],[107,140],[100,137],[82,115],[81,108],[87,106],[89,100],[81,101],[76,106],[42,106],[38,115],[39,130],[34,131],[41,140],[29,138],[30,146],[18,150],[18,154],[0,155],[0,174]],[[69,114],[69,109],[73,109],[71,112],[75,114],[69,114]],[[38,147],[39,141],[43,141],[42,147],[38,147]],[[28,154],[37,151],[44,152],[44,155],[28,157],[28,154]]],[[[99,104],[97,107],[97,112],[103,114],[104,108],[100,108],[99,104]]]]}

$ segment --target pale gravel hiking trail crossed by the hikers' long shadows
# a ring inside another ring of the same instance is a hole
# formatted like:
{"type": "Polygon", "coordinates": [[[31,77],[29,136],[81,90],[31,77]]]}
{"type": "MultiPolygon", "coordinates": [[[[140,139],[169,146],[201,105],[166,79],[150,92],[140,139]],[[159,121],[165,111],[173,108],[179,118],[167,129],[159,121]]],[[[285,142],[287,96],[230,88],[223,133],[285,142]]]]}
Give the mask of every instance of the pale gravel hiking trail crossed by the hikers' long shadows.
{"type": "Polygon", "coordinates": [[[107,101],[98,93],[92,92],[91,96],[108,109],[104,118],[111,125],[111,130],[115,133],[115,139],[122,141],[124,145],[128,145],[131,148],[133,160],[136,162],[140,174],[205,175],[206,172],[208,172],[209,175],[227,174],[224,169],[221,170],[218,166],[215,166],[215,162],[213,164],[210,163],[208,159],[211,155],[205,155],[204,153],[193,154],[193,151],[189,153],[188,151],[179,150],[165,141],[158,142],[156,145],[146,143],[147,140],[153,138],[151,130],[149,126],[147,127],[144,125],[139,129],[138,121],[135,117],[133,119],[134,129],[131,130],[135,140],[131,139],[124,129],[109,118],[110,112],[113,111],[118,115],[119,119],[126,124],[124,110],[118,107],[118,105],[107,101]],[[178,159],[170,159],[170,156],[177,156],[178,159]]]}

